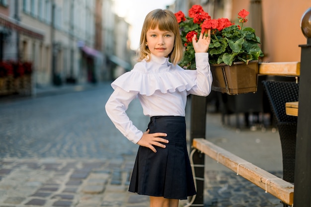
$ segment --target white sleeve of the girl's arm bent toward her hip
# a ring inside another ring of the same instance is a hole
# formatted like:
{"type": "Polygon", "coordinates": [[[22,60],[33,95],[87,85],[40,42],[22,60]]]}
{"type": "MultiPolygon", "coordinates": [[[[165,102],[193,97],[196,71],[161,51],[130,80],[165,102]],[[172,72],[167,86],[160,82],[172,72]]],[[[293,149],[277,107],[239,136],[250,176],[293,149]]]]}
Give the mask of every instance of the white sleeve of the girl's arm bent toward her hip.
{"type": "Polygon", "coordinates": [[[142,138],[143,132],[133,125],[126,114],[126,110],[137,94],[137,91],[127,92],[117,87],[105,105],[106,113],[116,128],[134,143],[137,143],[142,138]]]}

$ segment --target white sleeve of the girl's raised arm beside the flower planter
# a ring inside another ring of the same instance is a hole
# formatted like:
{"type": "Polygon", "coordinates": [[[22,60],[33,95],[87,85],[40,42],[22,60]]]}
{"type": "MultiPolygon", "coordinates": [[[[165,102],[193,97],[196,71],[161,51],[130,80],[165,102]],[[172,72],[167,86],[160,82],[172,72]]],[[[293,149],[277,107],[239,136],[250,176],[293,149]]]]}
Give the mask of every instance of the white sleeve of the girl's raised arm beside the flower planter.
{"type": "Polygon", "coordinates": [[[208,61],[208,53],[195,54],[195,63],[197,69],[186,71],[196,73],[196,85],[192,87],[188,93],[199,96],[208,96],[210,94],[213,77],[208,61]]]}

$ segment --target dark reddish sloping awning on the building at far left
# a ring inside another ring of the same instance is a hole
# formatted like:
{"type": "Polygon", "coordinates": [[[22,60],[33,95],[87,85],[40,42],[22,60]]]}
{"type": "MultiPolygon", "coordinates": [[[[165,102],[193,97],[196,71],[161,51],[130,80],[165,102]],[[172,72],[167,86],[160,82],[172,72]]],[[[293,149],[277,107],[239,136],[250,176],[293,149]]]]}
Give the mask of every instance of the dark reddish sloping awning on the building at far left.
{"type": "Polygon", "coordinates": [[[36,28],[30,27],[22,22],[19,22],[15,19],[12,19],[8,16],[5,16],[3,14],[0,14],[0,25],[15,30],[23,35],[27,35],[32,38],[36,38],[39,40],[44,39],[44,33],[39,31],[36,28]]]}

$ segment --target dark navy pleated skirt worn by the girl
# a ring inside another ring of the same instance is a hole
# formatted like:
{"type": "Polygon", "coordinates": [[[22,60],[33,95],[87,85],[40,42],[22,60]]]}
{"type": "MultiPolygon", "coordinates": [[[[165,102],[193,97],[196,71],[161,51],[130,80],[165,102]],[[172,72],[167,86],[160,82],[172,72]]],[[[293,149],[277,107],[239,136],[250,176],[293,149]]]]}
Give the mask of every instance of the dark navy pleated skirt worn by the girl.
{"type": "Polygon", "coordinates": [[[165,148],[139,146],[129,191],[140,195],[185,200],[196,194],[186,143],[185,118],[151,117],[150,133],[166,133],[165,148]]]}

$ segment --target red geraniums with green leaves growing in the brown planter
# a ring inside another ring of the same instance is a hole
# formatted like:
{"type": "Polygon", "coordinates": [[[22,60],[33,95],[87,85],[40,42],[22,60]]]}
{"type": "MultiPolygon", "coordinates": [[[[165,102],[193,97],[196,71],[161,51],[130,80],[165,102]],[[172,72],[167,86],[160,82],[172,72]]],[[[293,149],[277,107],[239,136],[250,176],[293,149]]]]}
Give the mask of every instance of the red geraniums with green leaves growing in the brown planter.
{"type": "Polygon", "coordinates": [[[228,18],[211,19],[211,16],[203,10],[201,5],[193,5],[189,9],[189,16],[185,17],[182,11],[175,13],[179,23],[179,32],[183,45],[185,46],[184,58],[179,66],[186,69],[194,69],[195,54],[191,44],[194,35],[211,30],[211,47],[209,48],[209,63],[225,63],[229,66],[236,61],[243,61],[246,64],[251,60],[258,60],[263,53],[258,46],[259,37],[255,36],[252,28],[243,28],[245,18],[249,14],[245,9],[238,13],[238,20],[241,24],[234,25],[228,18]],[[232,44],[232,42],[234,44],[232,44]],[[247,44],[243,44],[246,42],[247,44]]]}

